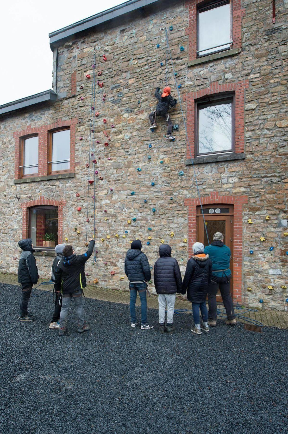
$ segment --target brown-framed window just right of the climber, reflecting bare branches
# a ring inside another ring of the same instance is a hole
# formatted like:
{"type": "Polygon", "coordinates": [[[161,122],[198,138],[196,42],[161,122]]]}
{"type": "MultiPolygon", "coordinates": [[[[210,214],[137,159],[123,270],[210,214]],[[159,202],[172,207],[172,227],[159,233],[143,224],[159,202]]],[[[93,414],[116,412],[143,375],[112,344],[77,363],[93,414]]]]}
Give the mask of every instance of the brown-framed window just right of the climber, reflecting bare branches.
{"type": "Polygon", "coordinates": [[[196,155],[234,151],[235,95],[220,95],[196,102],[196,155]]]}

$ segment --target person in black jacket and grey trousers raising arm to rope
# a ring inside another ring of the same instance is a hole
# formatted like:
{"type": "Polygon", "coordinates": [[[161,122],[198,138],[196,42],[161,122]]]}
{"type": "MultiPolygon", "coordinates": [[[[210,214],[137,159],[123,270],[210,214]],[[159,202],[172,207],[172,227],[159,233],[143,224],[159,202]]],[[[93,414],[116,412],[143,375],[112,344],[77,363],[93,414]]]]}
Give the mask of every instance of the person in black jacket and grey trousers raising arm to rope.
{"type": "Polygon", "coordinates": [[[90,330],[90,325],[84,323],[83,288],[86,287],[85,262],[93,253],[95,241],[91,240],[86,253],[75,255],[72,246],[65,246],[63,259],[58,264],[55,272],[55,290],[61,291],[62,307],[60,312],[59,336],[67,332],[67,316],[72,298],[74,299],[78,317],[79,333],[90,330]]]}

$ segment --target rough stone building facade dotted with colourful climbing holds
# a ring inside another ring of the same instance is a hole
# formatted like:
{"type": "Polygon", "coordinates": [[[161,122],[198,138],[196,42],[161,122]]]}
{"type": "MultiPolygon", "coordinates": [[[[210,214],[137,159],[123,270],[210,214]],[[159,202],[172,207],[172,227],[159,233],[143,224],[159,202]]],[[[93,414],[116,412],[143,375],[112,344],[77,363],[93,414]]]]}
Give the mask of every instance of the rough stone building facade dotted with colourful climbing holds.
{"type": "MultiPolygon", "coordinates": [[[[275,20],[271,0],[214,2],[230,3],[233,43],[206,56],[197,55],[197,31],[201,8],[211,3],[130,3],[131,10],[118,7],[101,20],[94,16],[51,33],[53,91],[0,106],[0,270],[17,272],[17,241],[29,236],[34,207],[58,207],[58,243],[67,238],[77,252],[85,250],[86,225],[88,240],[94,233],[94,184],[88,189],[88,179],[96,170],[98,253],[96,264],[86,266],[89,283],[98,279],[102,287],[127,289],[124,259],[135,238],[151,265],[161,242],[169,243],[184,274],[192,244],[206,240],[204,225],[224,227],[233,250],[235,302],[261,307],[263,300],[269,308],[287,309],[287,0],[276,2],[275,20]],[[175,141],[163,137],[164,119],[154,132],[148,129],[155,88],[166,85],[165,28],[173,62],[168,56],[168,85],[178,99],[170,109],[179,125],[175,141]],[[102,72],[96,80],[104,85],[96,85],[92,134],[94,71],[102,72]],[[232,101],[234,146],[198,155],[199,107],[215,98],[232,101]],[[51,134],[63,129],[70,129],[70,168],[53,173],[51,134]],[[32,136],[38,137],[38,173],[23,177],[23,140],[32,136]]],[[[53,255],[49,249],[38,253],[41,277],[50,277],[53,255]]]]}

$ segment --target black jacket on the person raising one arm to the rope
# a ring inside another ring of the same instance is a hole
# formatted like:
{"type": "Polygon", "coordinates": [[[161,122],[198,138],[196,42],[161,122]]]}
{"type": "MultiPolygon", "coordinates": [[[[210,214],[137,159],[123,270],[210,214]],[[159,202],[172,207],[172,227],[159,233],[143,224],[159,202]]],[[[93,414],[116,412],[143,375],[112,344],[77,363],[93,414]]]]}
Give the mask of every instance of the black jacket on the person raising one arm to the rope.
{"type": "Polygon", "coordinates": [[[74,293],[86,288],[85,262],[93,253],[95,241],[91,240],[86,253],[64,257],[55,272],[55,290],[74,293]]]}

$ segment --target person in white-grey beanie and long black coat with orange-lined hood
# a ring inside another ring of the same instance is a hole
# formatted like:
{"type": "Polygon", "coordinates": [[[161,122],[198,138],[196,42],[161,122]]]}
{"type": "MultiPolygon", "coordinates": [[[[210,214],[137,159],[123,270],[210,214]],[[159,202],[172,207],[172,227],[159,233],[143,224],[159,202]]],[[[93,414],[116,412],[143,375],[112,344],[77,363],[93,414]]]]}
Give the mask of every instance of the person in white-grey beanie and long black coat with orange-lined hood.
{"type": "Polygon", "coordinates": [[[208,327],[208,310],[206,306],[206,297],[208,286],[212,278],[212,262],[209,255],[204,253],[202,243],[195,243],[192,247],[194,256],[189,259],[186,267],[186,273],[183,280],[182,294],[187,290],[187,299],[192,302],[192,313],[194,326],[191,327],[191,332],[196,335],[201,335],[201,329],[204,332],[209,332],[208,327]],[[200,325],[201,310],[202,323],[200,325]]]}

